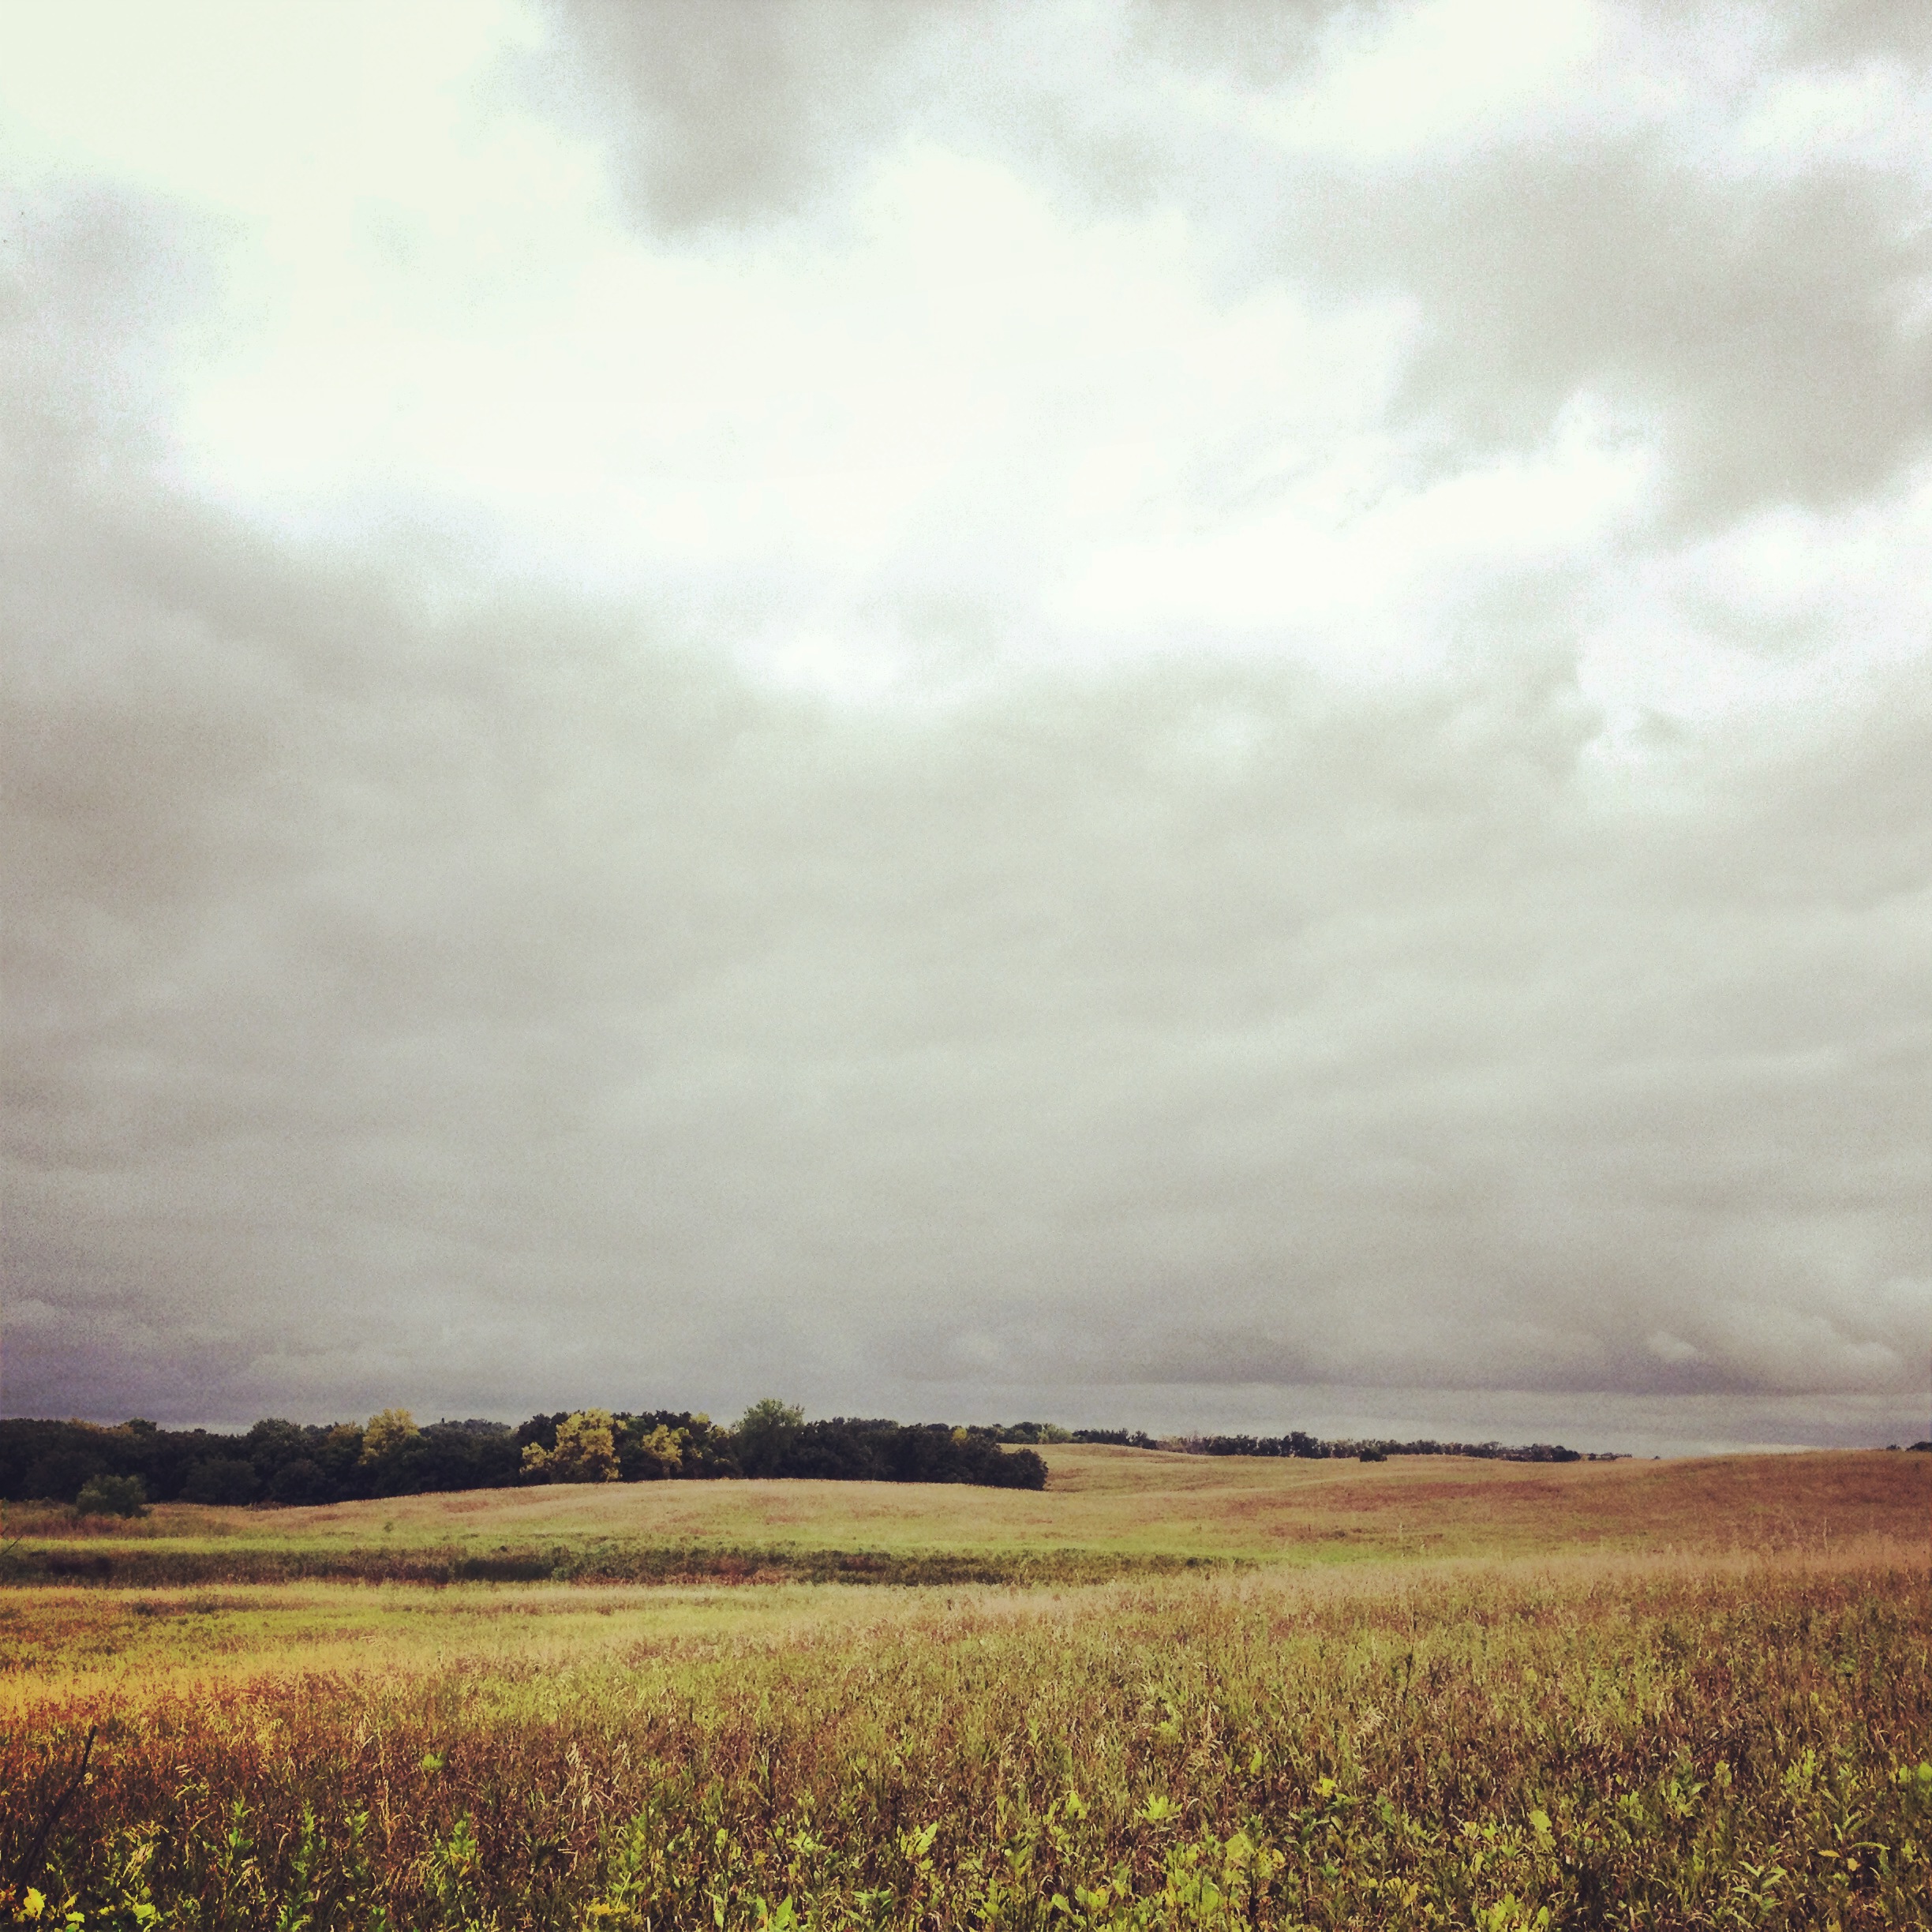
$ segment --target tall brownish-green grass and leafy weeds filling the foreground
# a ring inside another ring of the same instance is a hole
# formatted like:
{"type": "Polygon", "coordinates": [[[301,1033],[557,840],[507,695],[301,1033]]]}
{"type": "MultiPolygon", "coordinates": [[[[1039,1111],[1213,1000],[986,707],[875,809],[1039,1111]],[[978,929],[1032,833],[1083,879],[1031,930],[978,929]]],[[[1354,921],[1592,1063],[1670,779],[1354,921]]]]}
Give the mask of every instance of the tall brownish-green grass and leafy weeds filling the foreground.
{"type": "Polygon", "coordinates": [[[0,1868],[95,1727],[50,1922],[1920,1926],[1928,1629],[1897,1567],[1605,1563],[48,1683],[0,1745],[0,1868]]]}

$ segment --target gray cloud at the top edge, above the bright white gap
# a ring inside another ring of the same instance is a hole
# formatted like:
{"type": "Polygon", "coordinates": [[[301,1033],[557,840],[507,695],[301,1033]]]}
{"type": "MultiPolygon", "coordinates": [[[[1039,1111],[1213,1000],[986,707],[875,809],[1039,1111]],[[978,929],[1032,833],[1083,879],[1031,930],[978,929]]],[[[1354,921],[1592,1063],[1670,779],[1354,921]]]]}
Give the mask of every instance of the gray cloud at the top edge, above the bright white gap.
{"type": "MultiPolygon", "coordinates": [[[[1366,23],[1395,10],[1343,12],[1366,23]]],[[[549,44],[518,64],[531,99],[605,145],[639,222],[717,236],[837,211],[916,137],[1045,170],[1084,205],[1146,203],[1173,172],[1173,141],[1121,83],[1279,85],[1316,60],[1337,10],[553,0],[545,17],[549,44]]]]}

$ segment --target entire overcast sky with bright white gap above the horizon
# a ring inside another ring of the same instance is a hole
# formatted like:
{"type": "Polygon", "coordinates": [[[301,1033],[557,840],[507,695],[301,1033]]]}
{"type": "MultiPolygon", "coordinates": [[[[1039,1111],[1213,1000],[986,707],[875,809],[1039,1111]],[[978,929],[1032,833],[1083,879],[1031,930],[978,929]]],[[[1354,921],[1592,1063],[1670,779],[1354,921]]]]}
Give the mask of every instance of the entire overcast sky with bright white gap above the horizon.
{"type": "Polygon", "coordinates": [[[1932,10],[0,12],[0,1410],[1932,1434],[1932,10]]]}

